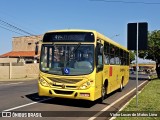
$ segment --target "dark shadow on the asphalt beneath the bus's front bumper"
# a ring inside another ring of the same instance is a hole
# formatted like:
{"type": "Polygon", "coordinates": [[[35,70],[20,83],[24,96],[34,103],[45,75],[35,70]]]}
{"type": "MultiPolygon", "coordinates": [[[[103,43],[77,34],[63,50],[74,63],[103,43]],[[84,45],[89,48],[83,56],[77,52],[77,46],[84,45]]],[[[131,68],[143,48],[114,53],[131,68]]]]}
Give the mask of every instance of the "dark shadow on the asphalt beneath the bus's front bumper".
{"type": "Polygon", "coordinates": [[[72,106],[72,107],[82,107],[82,108],[90,108],[97,104],[97,101],[91,102],[87,100],[76,100],[76,99],[64,99],[64,98],[51,98],[50,97],[41,97],[38,93],[32,93],[25,95],[26,98],[34,101],[40,102],[44,104],[56,104],[63,106],[72,106]]]}

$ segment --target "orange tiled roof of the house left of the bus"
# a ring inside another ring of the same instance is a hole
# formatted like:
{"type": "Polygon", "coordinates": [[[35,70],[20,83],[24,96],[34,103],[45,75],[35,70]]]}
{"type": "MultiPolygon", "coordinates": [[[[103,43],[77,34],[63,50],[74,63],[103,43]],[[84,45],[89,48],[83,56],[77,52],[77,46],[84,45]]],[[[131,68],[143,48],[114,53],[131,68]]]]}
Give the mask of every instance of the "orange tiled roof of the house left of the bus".
{"type": "Polygon", "coordinates": [[[11,51],[0,55],[0,57],[35,57],[35,51],[11,51]]]}

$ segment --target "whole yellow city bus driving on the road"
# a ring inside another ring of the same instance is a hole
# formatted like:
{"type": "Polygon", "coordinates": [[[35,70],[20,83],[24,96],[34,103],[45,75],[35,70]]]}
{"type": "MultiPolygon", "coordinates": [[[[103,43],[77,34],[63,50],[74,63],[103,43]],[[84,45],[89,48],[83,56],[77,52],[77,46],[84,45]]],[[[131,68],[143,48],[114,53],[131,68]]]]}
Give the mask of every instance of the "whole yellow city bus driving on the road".
{"type": "Polygon", "coordinates": [[[95,30],[44,34],[39,96],[101,100],[129,80],[129,51],[95,30]]]}

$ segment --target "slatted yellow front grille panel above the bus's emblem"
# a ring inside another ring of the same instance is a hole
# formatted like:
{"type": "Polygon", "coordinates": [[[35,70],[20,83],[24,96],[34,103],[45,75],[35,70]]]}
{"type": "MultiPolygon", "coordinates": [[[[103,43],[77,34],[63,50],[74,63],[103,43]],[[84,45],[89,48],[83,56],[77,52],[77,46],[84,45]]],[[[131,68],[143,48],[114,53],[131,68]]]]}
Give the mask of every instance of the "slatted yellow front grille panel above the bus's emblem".
{"type": "Polygon", "coordinates": [[[48,79],[56,83],[68,83],[68,84],[76,84],[82,80],[82,79],[59,79],[59,78],[52,78],[52,77],[48,77],[48,79]]]}

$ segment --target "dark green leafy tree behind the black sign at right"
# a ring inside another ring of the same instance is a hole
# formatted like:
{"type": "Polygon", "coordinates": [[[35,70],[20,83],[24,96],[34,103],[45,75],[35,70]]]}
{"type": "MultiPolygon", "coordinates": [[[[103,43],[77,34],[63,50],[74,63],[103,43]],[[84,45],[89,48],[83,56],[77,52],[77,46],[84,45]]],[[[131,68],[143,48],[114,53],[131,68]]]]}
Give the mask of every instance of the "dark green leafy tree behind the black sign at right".
{"type": "Polygon", "coordinates": [[[157,76],[160,78],[160,30],[148,33],[148,50],[140,51],[139,57],[155,61],[157,76]]]}

